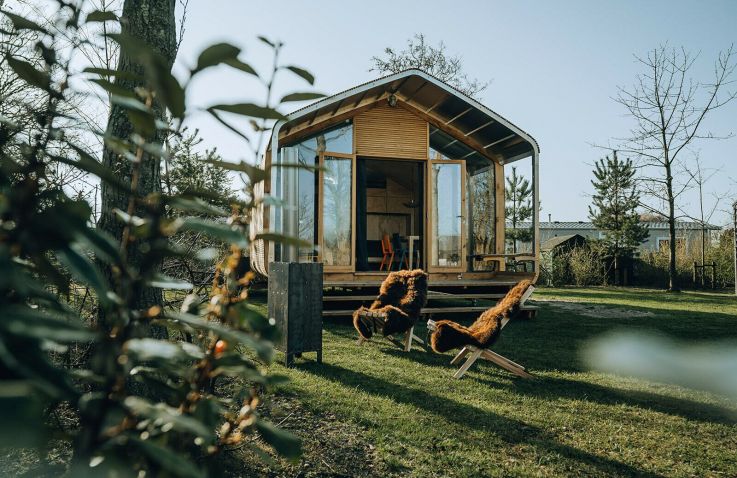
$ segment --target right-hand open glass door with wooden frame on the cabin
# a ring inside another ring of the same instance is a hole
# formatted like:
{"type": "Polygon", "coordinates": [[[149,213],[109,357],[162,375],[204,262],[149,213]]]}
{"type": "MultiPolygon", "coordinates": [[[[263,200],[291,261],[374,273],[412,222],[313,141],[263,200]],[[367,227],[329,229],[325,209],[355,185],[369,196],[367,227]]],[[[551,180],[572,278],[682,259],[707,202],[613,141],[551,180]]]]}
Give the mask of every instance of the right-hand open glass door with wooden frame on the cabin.
{"type": "Polygon", "coordinates": [[[430,161],[430,270],[465,270],[465,162],[430,161]]]}

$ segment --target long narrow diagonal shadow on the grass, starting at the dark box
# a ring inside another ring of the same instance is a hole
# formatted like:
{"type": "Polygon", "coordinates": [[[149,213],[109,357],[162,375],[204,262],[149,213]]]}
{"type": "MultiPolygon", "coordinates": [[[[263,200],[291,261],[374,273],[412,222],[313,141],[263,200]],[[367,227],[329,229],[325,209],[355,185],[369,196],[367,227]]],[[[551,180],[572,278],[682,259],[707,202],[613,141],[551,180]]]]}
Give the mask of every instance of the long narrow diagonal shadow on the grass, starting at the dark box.
{"type": "Polygon", "coordinates": [[[662,476],[617,460],[598,456],[555,441],[545,430],[519,420],[481,410],[466,403],[439,397],[418,388],[388,382],[361,372],[330,364],[306,363],[300,367],[332,382],[349,388],[358,388],[366,393],[392,400],[441,416],[464,428],[483,433],[493,433],[509,444],[525,443],[541,451],[555,453],[585,466],[597,468],[606,474],[625,476],[662,476]]]}

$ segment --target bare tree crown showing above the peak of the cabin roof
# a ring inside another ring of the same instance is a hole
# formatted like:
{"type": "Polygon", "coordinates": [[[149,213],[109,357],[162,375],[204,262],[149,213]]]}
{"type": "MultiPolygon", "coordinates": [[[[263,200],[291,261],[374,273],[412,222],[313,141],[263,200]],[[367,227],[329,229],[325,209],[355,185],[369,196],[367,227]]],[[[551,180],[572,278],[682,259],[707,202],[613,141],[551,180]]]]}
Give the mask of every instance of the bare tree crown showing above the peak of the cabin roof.
{"type": "Polygon", "coordinates": [[[369,71],[398,73],[408,68],[419,68],[476,99],[489,86],[488,81],[481,82],[476,78],[468,78],[463,72],[463,60],[460,56],[448,55],[443,42],[437,47],[428,45],[422,33],[416,33],[407,40],[406,49],[396,51],[387,47],[384,49],[384,55],[371,57],[373,67],[369,71]]]}

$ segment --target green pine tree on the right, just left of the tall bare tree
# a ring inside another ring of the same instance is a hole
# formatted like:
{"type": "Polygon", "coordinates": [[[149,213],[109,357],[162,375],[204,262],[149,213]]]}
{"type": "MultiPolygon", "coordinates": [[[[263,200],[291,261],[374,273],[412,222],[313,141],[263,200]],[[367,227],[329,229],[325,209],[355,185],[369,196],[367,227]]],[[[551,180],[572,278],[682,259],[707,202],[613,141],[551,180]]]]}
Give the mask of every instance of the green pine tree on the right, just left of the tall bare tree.
{"type": "Polygon", "coordinates": [[[618,282],[622,259],[631,258],[637,247],[647,238],[647,227],[640,222],[636,209],[640,194],[635,185],[632,161],[620,161],[617,152],[595,163],[591,180],[596,193],[589,206],[589,218],[604,232],[602,242],[614,261],[614,280],[618,282]]]}

